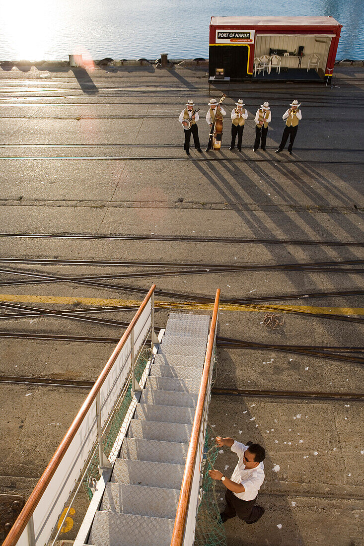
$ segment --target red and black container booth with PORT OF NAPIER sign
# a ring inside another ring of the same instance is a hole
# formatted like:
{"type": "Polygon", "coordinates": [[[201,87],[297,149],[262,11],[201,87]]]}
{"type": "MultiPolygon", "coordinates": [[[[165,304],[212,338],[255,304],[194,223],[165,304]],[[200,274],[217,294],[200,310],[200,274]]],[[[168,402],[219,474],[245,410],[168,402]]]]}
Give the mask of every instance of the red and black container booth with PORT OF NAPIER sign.
{"type": "Polygon", "coordinates": [[[333,17],[211,17],[209,76],[326,82],[341,28],[333,17]]]}

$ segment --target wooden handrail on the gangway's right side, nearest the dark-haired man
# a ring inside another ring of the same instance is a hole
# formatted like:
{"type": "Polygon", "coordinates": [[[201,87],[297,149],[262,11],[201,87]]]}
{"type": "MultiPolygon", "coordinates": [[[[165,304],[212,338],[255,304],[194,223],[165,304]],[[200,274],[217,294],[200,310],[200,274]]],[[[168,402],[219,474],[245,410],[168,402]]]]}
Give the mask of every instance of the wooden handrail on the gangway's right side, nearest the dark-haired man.
{"type": "MultiPolygon", "coordinates": [[[[187,519],[187,509],[189,506],[191,488],[192,488],[192,476],[193,476],[193,467],[195,466],[197,447],[198,447],[198,438],[199,432],[201,429],[202,416],[203,416],[203,406],[206,397],[207,383],[210,372],[210,364],[214,349],[214,337],[216,323],[218,321],[218,311],[219,311],[219,301],[220,301],[220,288],[216,290],[214,311],[212,316],[212,321],[210,325],[209,341],[206,351],[206,358],[203,365],[201,385],[199,387],[197,405],[195,418],[193,419],[191,439],[189,443],[189,449],[186,457],[185,471],[183,474],[183,480],[181,485],[181,492],[179,495],[177,514],[174,521],[173,533],[171,546],[181,546],[183,542],[184,530],[187,519]]],[[[5,545],[6,546],[6,545],[5,545]]]]}

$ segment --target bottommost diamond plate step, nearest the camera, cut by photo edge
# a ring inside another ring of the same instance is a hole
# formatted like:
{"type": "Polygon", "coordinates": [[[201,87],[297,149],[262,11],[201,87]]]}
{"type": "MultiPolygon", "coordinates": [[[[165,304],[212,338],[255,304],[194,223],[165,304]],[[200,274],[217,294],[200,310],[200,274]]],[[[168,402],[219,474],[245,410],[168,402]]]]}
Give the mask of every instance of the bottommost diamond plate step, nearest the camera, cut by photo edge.
{"type": "Polygon", "coordinates": [[[96,512],[89,544],[94,546],[171,546],[174,519],[96,512]]]}

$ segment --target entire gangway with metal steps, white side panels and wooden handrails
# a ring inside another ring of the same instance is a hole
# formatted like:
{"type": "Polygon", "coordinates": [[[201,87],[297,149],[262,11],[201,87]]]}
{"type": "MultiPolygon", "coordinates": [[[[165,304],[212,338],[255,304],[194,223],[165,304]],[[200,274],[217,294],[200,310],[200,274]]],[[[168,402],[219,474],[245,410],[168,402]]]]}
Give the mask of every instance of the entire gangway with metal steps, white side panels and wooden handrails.
{"type": "Polygon", "coordinates": [[[220,290],[211,323],[206,315],[171,313],[158,337],[154,290],[155,285],[3,546],[54,546],[61,514],[63,521],[95,456],[99,479],[90,484],[92,499],[74,546],[192,546],[201,500],[220,290]],[[151,357],[137,381],[135,366],[149,339],[151,357]],[[105,434],[127,385],[130,406],[105,453],[105,434]]]}

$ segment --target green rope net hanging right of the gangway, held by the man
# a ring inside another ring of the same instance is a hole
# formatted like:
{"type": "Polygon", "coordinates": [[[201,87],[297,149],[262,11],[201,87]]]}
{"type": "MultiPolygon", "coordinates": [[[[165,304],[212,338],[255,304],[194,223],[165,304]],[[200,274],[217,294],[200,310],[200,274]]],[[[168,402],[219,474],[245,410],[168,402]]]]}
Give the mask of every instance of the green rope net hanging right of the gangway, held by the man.
{"type": "Polygon", "coordinates": [[[197,512],[195,546],[226,546],[225,527],[220,519],[216,481],[209,476],[214,467],[219,448],[215,444],[213,429],[207,426],[202,469],[201,502],[197,512]]]}

